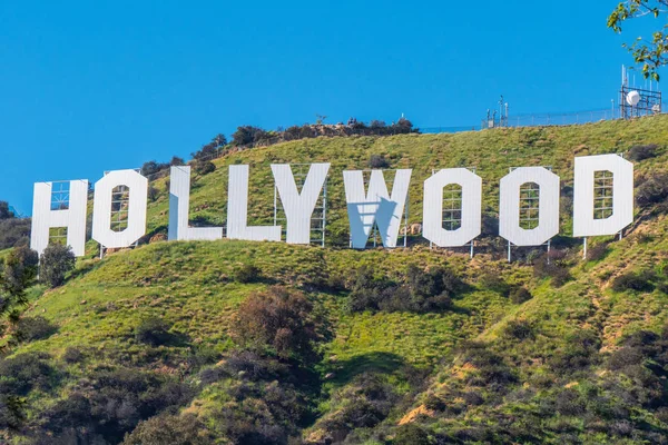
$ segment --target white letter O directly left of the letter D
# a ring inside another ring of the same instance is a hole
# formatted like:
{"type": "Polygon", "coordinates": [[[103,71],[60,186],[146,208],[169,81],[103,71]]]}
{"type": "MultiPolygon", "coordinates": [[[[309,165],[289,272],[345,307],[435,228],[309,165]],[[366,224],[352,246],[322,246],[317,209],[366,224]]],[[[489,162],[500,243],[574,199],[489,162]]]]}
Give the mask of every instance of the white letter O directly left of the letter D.
{"type": "Polygon", "coordinates": [[[559,177],[543,167],[521,167],[501,178],[499,235],[515,246],[540,246],[559,233],[559,177]],[[539,186],[538,227],[520,227],[520,187],[539,186]]]}

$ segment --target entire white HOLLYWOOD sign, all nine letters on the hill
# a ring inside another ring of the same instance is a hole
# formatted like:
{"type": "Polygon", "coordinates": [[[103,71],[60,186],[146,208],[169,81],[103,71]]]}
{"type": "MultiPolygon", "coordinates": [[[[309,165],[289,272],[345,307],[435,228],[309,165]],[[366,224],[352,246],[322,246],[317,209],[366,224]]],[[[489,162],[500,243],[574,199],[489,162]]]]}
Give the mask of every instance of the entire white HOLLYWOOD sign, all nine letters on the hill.
{"type": "MultiPolygon", "coordinates": [[[[285,211],[289,244],[310,244],[311,221],[322,196],[330,164],[312,164],[298,190],[289,165],[272,165],[275,187],[285,211]]],[[[382,170],[372,170],[365,184],[362,170],[343,171],[345,199],[351,229],[351,246],[364,248],[374,225],[384,247],[396,247],[400,226],[411,181],[411,169],[396,170],[392,191],[387,191],[382,170]]],[[[67,244],[77,256],[85,255],[88,181],[69,182],[69,206],[52,209],[52,182],[35,185],[31,247],[42,253],[49,231],[67,228],[67,244]]],[[[92,239],[107,248],[134,245],[146,234],[148,179],[135,170],[116,170],[95,185],[92,239]],[[114,190],[129,189],[127,227],[111,228],[114,190]]],[[[422,236],[439,247],[470,244],[481,233],[482,179],[465,168],[442,169],[424,181],[422,236]],[[456,229],[443,227],[443,189],[461,187],[461,224],[456,229]]],[[[222,227],[188,225],[190,168],[171,167],[169,186],[169,240],[213,240],[223,238],[222,227]]],[[[560,180],[544,167],[520,167],[500,182],[499,235],[515,246],[540,246],[559,233],[560,180]],[[527,229],[520,221],[520,188],[539,186],[538,225],[527,229]]],[[[574,159],[573,236],[615,235],[633,219],[633,165],[617,155],[577,157],[574,159]],[[597,171],[612,174],[610,215],[596,217],[597,171]]],[[[229,166],[227,196],[227,238],[282,240],[282,227],[248,225],[248,166],[229,166]]]]}

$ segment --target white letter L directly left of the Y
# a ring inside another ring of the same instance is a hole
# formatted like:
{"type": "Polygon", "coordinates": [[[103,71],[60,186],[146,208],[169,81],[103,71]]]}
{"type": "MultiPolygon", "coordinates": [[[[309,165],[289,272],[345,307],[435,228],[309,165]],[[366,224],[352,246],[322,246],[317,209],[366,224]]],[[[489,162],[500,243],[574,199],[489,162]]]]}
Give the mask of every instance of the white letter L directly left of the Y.
{"type": "Polygon", "coordinates": [[[229,166],[227,238],[279,241],[281,226],[248,226],[248,166],[229,166]]]}

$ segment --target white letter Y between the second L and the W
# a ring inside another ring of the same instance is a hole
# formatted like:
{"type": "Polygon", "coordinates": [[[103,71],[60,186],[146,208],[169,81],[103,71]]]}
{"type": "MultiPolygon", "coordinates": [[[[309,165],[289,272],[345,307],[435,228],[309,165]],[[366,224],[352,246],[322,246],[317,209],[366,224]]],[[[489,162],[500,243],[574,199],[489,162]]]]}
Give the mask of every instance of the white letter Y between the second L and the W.
{"type": "Polygon", "coordinates": [[[272,164],[274,181],[287,219],[285,240],[288,244],[311,243],[311,216],[328,170],[330,164],[312,164],[299,194],[289,165],[272,164]]]}

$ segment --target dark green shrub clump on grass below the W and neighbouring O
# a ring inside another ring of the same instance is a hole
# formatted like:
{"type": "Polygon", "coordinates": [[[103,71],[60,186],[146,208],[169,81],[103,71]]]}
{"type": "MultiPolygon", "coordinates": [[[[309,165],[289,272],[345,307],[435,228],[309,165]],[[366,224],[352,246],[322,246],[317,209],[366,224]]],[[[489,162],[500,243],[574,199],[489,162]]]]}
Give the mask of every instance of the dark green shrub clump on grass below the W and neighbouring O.
{"type": "Polygon", "coordinates": [[[370,267],[361,267],[353,278],[348,305],[352,312],[445,310],[452,307],[452,297],[464,287],[464,283],[444,267],[423,270],[410,265],[402,283],[376,278],[370,267]]]}

